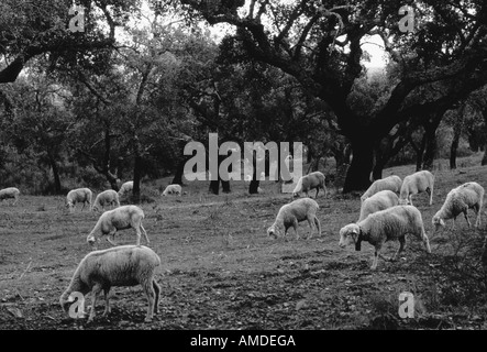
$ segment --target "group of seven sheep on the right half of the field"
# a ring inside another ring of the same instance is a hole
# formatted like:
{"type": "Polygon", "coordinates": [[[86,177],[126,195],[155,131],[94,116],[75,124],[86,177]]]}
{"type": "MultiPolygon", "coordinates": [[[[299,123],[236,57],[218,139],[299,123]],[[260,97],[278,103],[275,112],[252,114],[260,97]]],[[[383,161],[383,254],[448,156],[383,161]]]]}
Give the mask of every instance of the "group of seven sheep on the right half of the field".
{"type": "MultiPolygon", "coordinates": [[[[301,177],[298,182],[292,197],[305,193],[309,196],[310,189],[317,189],[317,195],[324,187],[324,175],[320,172],[301,177]]],[[[344,226],[340,230],[341,248],[350,244],[355,250],[361,250],[361,243],[366,241],[375,246],[372,270],[377,268],[378,257],[384,257],[380,250],[385,242],[399,241],[399,249],[391,258],[405,250],[406,234],[413,234],[424,243],[428,253],[431,253],[430,242],[424,231],[421,212],[412,205],[412,196],[427,193],[430,206],[433,204],[434,176],[428,170],[417,172],[408,175],[403,180],[399,176],[389,176],[374,182],[361,197],[361,213],[356,223],[344,226]],[[399,196],[397,195],[399,194],[399,196]]],[[[468,227],[468,209],[476,212],[475,227],[480,226],[480,213],[484,200],[484,188],[477,183],[466,183],[452,189],[441,207],[434,215],[432,223],[438,230],[445,226],[445,220],[453,219],[453,227],[458,215],[463,213],[468,227]]],[[[283,206],[276,217],[276,221],[267,229],[267,234],[276,238],[279,233],[286,234],[289,228],[294,228],[297,239],[298,222],[307,220],[310,226],[310,237],[314,228],[321,234],[320,221],[317,217],[319,205],[311,198],[300,198],[283,206]]]]}

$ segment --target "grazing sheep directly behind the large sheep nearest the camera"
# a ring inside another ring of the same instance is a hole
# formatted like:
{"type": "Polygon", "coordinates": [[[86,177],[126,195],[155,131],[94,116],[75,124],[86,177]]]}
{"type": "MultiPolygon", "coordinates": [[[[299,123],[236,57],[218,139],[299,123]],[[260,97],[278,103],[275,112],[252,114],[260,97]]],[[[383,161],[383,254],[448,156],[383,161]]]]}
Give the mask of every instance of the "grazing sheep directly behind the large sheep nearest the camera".
{"type": "Polygon", "coordinates": [[[137,237],[136,244],[141,244],[141,230],[144,233],[145,241],[148,244],[150,241],[147,238],[147,232],[145,232],[145,229],[142,226],[143,219],[144,211],[137,206],[123,206],[106,211],[100,216],[90,234],[88,234],[87,242],[95,245],[95,242],[97,242],[97,237],[107,235],[107,241],[112,245],[117,245],[117,243],[114,243],[115,232],[118,230],[133,228],[137,237]],[[110,237],[112,238],[111,240],[110,237]]]}

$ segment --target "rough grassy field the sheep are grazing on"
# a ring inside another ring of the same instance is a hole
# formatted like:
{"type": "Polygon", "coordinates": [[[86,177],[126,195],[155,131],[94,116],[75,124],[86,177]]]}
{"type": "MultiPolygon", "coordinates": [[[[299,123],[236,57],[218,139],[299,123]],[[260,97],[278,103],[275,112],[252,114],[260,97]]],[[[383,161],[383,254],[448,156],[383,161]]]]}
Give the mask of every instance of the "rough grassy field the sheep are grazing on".
{"type": "MultiPolygon", "coordinates": [[[[264,182],[265,194],[248,196],[244,183],[232,194],[212,196],[208,183],[191,183],[180,198],[157,197],[169,179],[145,184],[154,198],[142,204],[151,248],[161,256],[159,314],[144,323],[146,299],[140,287],[112,289],[112,314],[102,318],[102,300],[93,322],[74,320],[59,307],[79,261],[89,252],[86,237],[98,215],[69,213],[64,197],[22,195],[15,206],[0,202],[0,329],[485,329],[487,294],[478,263],[486,235],[468,229],[460,217],[457,230],[433,234],[432,216],[449,190],[475,180],[487,187],[487,167],[479,155],[458,161],[449,170],[435,163],[433,206],[428,196],[413,198],[421,210],[432,254],[407,239],[398,262],[379,261],[369,270],[373,248],[340,249],[339,231],[359,212],[359,195],[330,193],[319,197],[321,237],[272,240],[266,229],[289,195],[264,182]],[[416,316],[398,316],[399,294],[416,298],[416,316]]],[[[385,170],[401,178],[413,166],[385,170]]],[[[122,201],[123,204],[123,201],[122,201]]],[[[471,220],[473,220],[473,212],[471,220]]],[[[301,235],[308,224],[299,227],[301,235]]],[[[134,243],[132,230],[118,233],[120,244],[134,243]]],[[[142,239],[144,244],[144,239],[142,239]]],[[[388,243],[391,255],[398,243],[388,243]]],[[[107,241],[99,246],[108,248],[107,241]]],[[[90,299],[87,300],[87,306],[90,299]]]]}

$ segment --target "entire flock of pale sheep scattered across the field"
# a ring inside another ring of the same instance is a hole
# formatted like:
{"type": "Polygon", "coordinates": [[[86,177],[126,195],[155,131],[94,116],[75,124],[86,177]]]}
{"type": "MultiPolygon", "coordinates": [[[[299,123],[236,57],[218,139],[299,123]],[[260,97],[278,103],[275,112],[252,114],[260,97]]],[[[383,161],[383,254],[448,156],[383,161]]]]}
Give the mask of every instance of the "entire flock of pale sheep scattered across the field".
{"type": "MultiPolygon", "coordinates": [[[[316,172],[302,176],[292,193],[292,198],[299,197],[302,193],[307,197],[292,200],[284,205],[276,217],[275,222],[267,229],[269,237],[277,238],[286,235],[289,228],[294,228],[297,239],[299,239],[298,223],[308,221],[310,226],[309,238],[314,230],[321,234],[321,224],[317,217],[319,205],[309,198],[309,191],[316,189],[318,197],[321,189],[326,196],[325,177],[322,173],[316,172]]],[[[386,241],[398,240],[400,246],[392,261],[403,251],[406,245],[406,234],[413,234],[420,239],[428,253],[431,253],[429,239],[424,231],[421,212],[412,205],[412,196],[427,193],[430,206],[433,202],[434,176],[422,170],[406,176],[401,180],[398,176],[390,176],[376,180],[364,193],[361,198],[361,212],[356,223],[344,226],[340,230],[339,245],[344,248],[354,244],[357,251],[361,250],[363,241],[375,246],[375,256],[372,270],[376,270],[378,256],[383,257],[380,250],[386,241]],[[397,195],[399,194],[399,196],[397,195]]],[[[142,226],[144,212],[137,206],[120,206],[120,198],[132,191],[133,183],[129,182],[121,186],[119,193],[104,190],[100,193],[91,205],[92,193],[88,188],[74,189],[66,197],[66,206],[74,211],[76,204],[82,204],[81,210],[88,205],[90,210],[102,211],[107,206],[115,207],[112,210],[102,212],[93,229],[87,237],[87,242],[93,246],[95,251],[87,254],[79,263],[70,280],[68,288],[59,298],[59,304],[65,311],[74,302],[74,293],[87,295],[91,293],[92,302],[88,321],[95,318],[95,306],[98,295],[103,292],[106,309],[103,315],[110,312],[109,292],[112,286],[135,286],[141,285],[147,297],[148,307],[145,321],[152,321],[157,312],[161,287],[155,280],[156,270],[161,266],[161,258],[148,246],[141,245],[141,235],[144,234],[148,245],[147,233],[142,226]],[[117,245],[114,235],[118,230],[133,228],[136,233],[135,245],[117,245]],[[101,237],[107,237],[113,248],[108,250],[96,250],[96,243],[101,237]]],[[[19,189],[5,188],[0,190],[0,200],[13,198],[19,200],[19,189]]],[[[181,195],[179,185],[169,185],[163,196],[181,195]]],[[[466,183],[452,189],[441,207],[434,215],[432,223],[438,229],[445,226],[445,220],[455,219],[463,213],[471,227],[467,210],[474,209],[477,215],[475,226],[480,226],[480,211],[483,208],[484,188],[477,183],[466,183]]],[[[81,312],[85,314],[85,312],[81,312]]]]}

